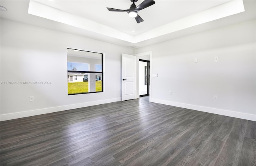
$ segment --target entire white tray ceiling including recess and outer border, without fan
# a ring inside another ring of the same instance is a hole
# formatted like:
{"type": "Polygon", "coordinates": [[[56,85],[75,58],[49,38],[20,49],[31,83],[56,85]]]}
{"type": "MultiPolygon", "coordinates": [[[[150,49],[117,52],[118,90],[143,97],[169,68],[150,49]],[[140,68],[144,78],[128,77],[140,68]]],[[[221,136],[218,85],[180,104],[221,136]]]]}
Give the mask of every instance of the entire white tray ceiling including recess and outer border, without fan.
{"type": "Polygon", "coordinates": [[[255,19],[254,0],[155,1],[138,12],[141,23],[126,12],[106,9],[129,9],[130,0],[1,0],[0,4],[7,8],[1,18],[134,48],[255,19]]]}

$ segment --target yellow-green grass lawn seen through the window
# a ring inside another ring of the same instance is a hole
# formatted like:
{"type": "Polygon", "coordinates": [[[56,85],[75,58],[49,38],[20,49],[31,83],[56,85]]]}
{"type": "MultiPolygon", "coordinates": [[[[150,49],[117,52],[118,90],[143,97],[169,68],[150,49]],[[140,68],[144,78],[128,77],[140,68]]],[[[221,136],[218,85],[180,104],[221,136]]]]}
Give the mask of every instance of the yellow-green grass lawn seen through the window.
{"type": "MultiPolygon", "coordinates": [[[[96,92],[102,92],[102,81],[96,81],[96,92]]],[[[88,93],[88,82],[68,82],[68,94],[88,93]]]]}

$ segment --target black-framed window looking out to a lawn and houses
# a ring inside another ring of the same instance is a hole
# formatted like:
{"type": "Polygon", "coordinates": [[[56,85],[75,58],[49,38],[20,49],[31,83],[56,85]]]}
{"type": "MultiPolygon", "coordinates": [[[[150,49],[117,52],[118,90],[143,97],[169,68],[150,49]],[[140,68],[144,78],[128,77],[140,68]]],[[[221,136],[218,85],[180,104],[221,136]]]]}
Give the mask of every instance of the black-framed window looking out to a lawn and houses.
{"type": "Polygon", "coordinates": [[[67,49],[68,95],[103,92],[103,54],[67,49]]]}

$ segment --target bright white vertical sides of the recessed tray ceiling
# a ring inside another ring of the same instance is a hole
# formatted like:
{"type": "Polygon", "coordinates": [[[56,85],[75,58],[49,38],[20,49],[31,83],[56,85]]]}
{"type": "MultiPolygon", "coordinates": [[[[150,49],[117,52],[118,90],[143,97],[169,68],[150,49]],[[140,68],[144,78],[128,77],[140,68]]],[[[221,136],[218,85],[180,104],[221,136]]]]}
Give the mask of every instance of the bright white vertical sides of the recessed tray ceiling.
{"type": "Polygon", "coordinates": [[[209,21],[218,20],[220,18],[238,14],[244,11],[244,4],[242,0],[232,0],[134,36],[108,27],[106,25],[87,20],[80,16],[52,8],[34,0],[30,0],[28,8],[28,14],[53,21],[58,21],[60,23],[78,27],[80,29],[95,32],[108,37],[113,37],[115,39],[127,41],[133,44],[200,25],[209,21]]]}

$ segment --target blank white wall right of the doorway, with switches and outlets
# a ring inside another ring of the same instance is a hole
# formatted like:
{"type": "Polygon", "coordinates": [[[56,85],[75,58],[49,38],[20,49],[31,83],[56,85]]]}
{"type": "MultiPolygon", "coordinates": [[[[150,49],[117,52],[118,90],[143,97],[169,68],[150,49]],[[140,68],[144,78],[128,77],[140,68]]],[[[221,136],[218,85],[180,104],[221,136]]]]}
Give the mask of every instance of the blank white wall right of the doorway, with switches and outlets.
{"type": "Polygon", "coordinates": [[[251,20],[135,49],[152,51],[150,101],[256,121],[255,29],[251,20]]]}

